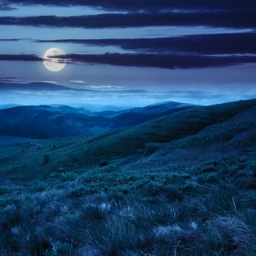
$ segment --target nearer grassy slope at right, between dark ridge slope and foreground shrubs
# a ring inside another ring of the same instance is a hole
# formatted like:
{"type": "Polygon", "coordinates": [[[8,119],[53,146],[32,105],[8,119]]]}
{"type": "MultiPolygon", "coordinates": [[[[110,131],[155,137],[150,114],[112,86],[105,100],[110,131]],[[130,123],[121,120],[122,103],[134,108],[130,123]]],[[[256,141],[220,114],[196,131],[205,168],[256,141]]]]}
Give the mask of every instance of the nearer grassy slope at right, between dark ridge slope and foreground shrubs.
{"type": "MultiPolygon", "coordinates": [[[[197,165],[208,158],[233,154],[240,156],[256,145],[256,107],[222,124],[213,124],[195,135],[162,145],[159,151],[143,157],[136,168],[151,170],[157,166],[197,165]]],[[[154,144],[152,145],[154,149],[154,144]]],[[[158,145],[155,146],[156,150],[158,145]]]]}

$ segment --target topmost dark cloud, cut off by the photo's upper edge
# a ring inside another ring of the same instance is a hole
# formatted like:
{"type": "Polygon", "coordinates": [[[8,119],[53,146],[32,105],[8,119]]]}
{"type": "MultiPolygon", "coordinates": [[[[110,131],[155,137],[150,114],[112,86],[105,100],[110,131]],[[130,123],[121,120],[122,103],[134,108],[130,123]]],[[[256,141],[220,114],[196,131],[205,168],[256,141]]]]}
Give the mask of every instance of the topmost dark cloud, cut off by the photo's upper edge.
{"type": "Polygon", "coordinates": [[[83,5],[106,10],[252,10],[255,0],[9,0],[10,3],[72,6],[83,5]]]}

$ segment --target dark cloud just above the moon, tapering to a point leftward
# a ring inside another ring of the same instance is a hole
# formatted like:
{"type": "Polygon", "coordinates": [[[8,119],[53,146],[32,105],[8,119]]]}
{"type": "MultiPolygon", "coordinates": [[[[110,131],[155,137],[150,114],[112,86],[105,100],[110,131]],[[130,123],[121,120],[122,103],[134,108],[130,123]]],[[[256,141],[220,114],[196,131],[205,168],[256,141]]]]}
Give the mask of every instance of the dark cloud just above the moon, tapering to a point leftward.
{"type": "Polygon", "coordinates": [[[37,42],[71,42],[99,46],[115,45],[124,50],[140,50],[148,53],[256,53],[256,33],[202,34],[142,39],[59,39],[38,40],[37,42]]]}

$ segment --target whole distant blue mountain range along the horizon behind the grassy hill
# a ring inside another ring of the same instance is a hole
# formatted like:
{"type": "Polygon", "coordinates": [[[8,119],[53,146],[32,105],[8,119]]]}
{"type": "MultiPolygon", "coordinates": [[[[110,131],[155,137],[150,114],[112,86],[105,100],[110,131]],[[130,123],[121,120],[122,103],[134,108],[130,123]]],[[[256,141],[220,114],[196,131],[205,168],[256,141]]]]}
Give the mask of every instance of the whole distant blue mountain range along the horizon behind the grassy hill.
{"type": "MultiPolygon", "coordinates": [[[[112,109],[113,106],[111,106],[112,109]]],[[[0,109],[0,135],[24,138],[94,136],[110,130],[142,124],[161,116],[195,108],[178,102],[162,102],[144,108],[91,112],[65,105],[5,106],[0,109]]],[[[117,109],[117,108],[116,108],[117,109]]]]}

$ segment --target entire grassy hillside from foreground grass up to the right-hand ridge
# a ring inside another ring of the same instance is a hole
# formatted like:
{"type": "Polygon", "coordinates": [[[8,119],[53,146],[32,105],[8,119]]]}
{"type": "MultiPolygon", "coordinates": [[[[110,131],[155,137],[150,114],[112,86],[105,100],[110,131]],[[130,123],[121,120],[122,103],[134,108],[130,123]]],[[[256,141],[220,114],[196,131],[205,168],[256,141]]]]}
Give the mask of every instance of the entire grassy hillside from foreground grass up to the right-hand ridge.
{"type": "Polygon", "coordinates": [[[255,116],[231,102],[1,147],[0,255],[255,255],[255,116]]]}

